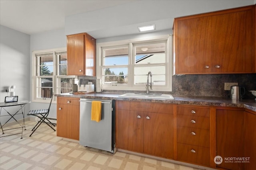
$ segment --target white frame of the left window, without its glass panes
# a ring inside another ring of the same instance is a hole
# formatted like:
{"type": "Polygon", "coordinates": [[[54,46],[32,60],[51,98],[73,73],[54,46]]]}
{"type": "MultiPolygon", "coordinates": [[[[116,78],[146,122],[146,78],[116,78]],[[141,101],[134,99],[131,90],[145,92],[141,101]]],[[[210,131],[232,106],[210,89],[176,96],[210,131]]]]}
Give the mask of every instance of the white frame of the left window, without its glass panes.
{"type": "MultiPolygon", "coordinates": [[[[32,102],[40,102],[40,103],[49,103],[51,98],[38,98],[37,97],[37,88],[38,88],[38,78],[52,78],[52,90],[54,94],[60,94],[60,80],[61,78],[75,78],[75,76],[67,76],[67,75],[59,75],[59,57],[57,57],[56,53],[67,51],[66,47],[56,48],[56,49],[46,49],[46,50],[38,50],[32,51],[32,102]],[[37,75],[37,54],[44,53],[52,53],[53,54],[53,75],[52,76],[38,76],[37,75]],[[58,87],[58,88],[57,88],[58,87]]],[[[52,103],[56,103],[56,97],[52,99],[52,103]]]]}

